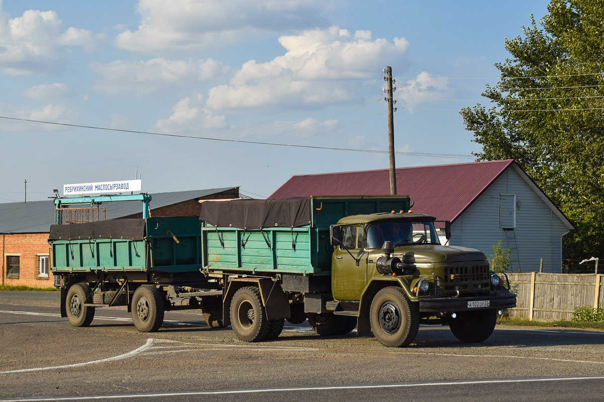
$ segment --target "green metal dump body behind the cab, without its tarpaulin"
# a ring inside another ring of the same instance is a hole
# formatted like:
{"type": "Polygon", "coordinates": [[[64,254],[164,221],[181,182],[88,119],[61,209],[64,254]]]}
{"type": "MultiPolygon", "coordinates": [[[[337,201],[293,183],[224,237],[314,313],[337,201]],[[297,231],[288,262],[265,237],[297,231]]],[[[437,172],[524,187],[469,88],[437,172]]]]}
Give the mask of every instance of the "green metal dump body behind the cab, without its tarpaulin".
{"type": "Polygon", "coordinates": [[[214,227],[202,222],[204,268],[250,274],[330,275],[330,225],[344,216],[406,212],[409,208],[406,195],[313,196],[311,220],[303,227],[266,227],[260,231],[214,227]]]}

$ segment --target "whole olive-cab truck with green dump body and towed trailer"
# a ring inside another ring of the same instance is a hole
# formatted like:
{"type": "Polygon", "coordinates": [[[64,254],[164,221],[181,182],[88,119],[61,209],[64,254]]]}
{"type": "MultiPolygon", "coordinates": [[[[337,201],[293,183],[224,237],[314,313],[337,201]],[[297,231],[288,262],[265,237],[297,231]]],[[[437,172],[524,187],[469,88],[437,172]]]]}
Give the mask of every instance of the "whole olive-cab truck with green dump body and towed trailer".
{"type": "MultiPolygon", "coordinates": [[[[57,217],[77,201],[57,199],[57,217]]],[[[388,347],[410,344],[420,323],[484,341],[501,309],[516,306],[507,277],[481,251],[442,245],[449,222],[409,209],[408,196],[234,199],[202,202],[199,219],[53,225],[61,315],[83,327],[97,307],[127,306],[152,332],[166,310],[201,310],[246,342],[306,319],[318,334],[356,327],[388,347]]]]}

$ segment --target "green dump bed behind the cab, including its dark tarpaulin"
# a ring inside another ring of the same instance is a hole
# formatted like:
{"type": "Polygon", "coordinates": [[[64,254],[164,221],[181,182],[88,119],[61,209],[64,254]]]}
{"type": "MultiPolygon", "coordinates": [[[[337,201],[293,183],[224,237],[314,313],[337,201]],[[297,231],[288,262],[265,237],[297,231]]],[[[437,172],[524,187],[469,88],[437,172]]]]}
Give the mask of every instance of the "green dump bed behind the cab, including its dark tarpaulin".
{"type": "Polygon", "coordinates": [[[204,201],[208,271],[329,275],[329,227],[344,216],[409,209],[408,196],[321,196],[204,201]]]}

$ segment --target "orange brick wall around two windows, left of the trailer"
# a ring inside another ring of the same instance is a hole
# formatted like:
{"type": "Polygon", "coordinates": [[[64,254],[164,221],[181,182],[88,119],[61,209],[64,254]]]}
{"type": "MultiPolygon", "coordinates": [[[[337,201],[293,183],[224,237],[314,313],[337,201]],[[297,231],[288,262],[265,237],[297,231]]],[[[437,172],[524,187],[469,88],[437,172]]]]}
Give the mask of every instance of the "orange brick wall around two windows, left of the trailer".
{"type": "Polygon", "coordinates": [[[25,284],[32,287],[51,287],[54,276],[50,272],[50,245],[48,233],[0,234],[0,256],[2,256],[2,284],[25,284]],[[39,275],[38,257],[49,256],[48,276],[39,275]],[[7,277],[7,257],[19,257],[19,277],[7,277]]]}

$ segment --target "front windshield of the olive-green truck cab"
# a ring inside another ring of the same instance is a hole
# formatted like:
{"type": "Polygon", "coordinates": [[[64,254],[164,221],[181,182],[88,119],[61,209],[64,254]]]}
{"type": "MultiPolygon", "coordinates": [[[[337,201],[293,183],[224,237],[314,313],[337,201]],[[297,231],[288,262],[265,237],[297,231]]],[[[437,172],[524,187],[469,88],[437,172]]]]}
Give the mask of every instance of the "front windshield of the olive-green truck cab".
{"type": "Polygon", "coordinates": [[[432,222],[382,222],[367,228],[367,248],[382,247],[385,241],[394,247],[429,243],[440,244],[432,222]]]}

